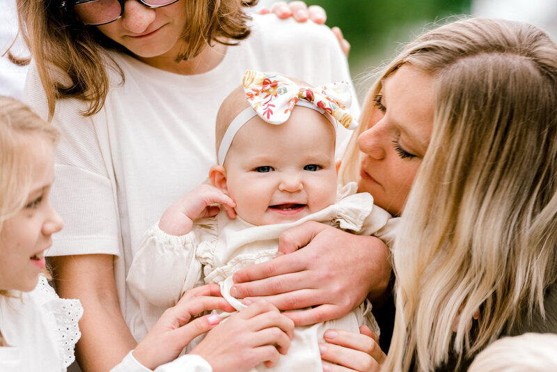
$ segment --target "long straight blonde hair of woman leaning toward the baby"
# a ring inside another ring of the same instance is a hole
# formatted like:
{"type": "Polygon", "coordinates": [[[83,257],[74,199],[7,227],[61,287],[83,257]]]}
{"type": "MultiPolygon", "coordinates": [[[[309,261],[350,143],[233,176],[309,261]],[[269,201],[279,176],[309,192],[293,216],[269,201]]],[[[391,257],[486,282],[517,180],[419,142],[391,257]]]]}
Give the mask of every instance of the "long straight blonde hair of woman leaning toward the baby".
{"type": "MultiPolygon", "coordinates": [[[[431,371],[453,353],[471,357],[522,316],[544,316],[544,290],[557,279],[557,46],[505,20],[428,31],[386,67],[361,123],[382,79],[405,63],[434,77],[434,123],[393,248],[397,311],[384,369],[431,371]]],[[[357,135],[343,180],[356,178],[357,135]]]]}

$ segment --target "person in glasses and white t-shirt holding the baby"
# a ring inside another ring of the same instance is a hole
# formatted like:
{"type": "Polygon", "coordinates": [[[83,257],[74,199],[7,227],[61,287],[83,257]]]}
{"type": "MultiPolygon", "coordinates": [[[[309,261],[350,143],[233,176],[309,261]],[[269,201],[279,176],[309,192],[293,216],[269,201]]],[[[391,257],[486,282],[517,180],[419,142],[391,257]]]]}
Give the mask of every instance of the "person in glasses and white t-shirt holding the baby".
{"type": "MultiPolygon", "coordinates": [[[[56,288],[85,309],[78,362],[106,371],[164,311],[126,286],[127,270],[143,232],[216,162],[214,118],[246,68],[280,70],[313,85],[348,81],[350,74],[329,29],[274,15],[250,20],[244,8],[256,1],[17,3],[33,55],[24,100],[62,132],[52,199],[66,228],[49,251],[56,288]]],[[[342,137],[339,131],[337,144],[342,137]]],[[[389,281],[388,250],[379,239],[342,231],[334,238],[345,245],[345,260],[339,265],[333,254],[318,254],[327,263],[311,260],[318,265],[304,278],[329,275],[331,265],[350,278],[287,295],[290,304],[301,298],[299,307],[315,305],[305,324],[345,315],[372,290],[372,279],[377,293],[389,281]],[[380,274],[348,270],[377,254],[380,274]]],[[[308,251],[297,262],[310,261],[308,251]]]]}

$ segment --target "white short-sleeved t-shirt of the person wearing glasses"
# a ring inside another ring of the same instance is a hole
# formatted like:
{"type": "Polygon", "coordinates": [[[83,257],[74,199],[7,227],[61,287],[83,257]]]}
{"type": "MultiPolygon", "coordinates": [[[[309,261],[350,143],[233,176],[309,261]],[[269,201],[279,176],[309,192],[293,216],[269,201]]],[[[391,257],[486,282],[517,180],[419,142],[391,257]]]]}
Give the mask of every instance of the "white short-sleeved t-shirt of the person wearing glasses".
{"type": "MultiPolygon", "coordinates": [[[[84,102],[58,102],[53,122],[63,133],[56,153],[52,202],[65,221],[51,256],[113,254],[120,308],[137,340],[146,322],[145,301],[125,277],[143,233],[216,164],[214,121],[223,99],[240,86],[247,68],[276,71],[313,86],[350,82],[347,61],[327,28],[312,22],[253,15],[252,33],[228,47],[216,68],[177,75],[112,54],[125,83],[111,86],[102,110],[91,117],[84,102]]],[[[355,97],[355,94],[354,94],[355,97]]],[[[47,117],[45,94],[31,66],[24,99],[47,117]]],[[[352,104],[359,116],[357,103],[352,104]]],[[[337,144],[350,135],[338,130],[337,144]]],[[[164,309],[148,315],[159,318],[164,309]]]]}

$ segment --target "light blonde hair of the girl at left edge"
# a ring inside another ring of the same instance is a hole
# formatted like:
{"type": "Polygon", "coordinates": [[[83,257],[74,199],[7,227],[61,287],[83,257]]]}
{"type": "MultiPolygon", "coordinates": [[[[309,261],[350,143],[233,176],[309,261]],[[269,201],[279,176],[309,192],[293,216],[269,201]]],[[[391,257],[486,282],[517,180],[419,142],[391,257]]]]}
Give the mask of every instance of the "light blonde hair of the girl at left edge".
{"type": "MultiPolygon", "coordinates": [[[[22,102],[0,96],[0,233],[3,223],[22,210],[29,197],[33,138],[54,146],[58,130],[22,102]]],[[[6,294],[0,290],[0,295],[6,294]]]]}

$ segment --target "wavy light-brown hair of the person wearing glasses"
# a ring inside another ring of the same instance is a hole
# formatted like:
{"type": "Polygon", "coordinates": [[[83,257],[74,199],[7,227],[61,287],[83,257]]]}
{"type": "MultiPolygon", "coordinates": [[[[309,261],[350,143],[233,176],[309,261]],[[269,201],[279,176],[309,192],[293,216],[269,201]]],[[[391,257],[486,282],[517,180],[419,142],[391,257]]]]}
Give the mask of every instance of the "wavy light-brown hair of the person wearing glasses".
{"type": "MultiPolygon", "coordinates": [[[[17,0],[20,31],[36,62],[47,95],[49,117],[56,100],[78,98],[88,102],[84,115],[96,114],[109,91],[107,69],[123,71],[107,55],[107,49],[127,52],[95,26],[81,24],[72,10],[63,10],[61,0],[17,0]],[[63,77],[61,77],[63,72],[63,77]]],[[[249,36],[249,15],[244,6],[257,0],[183,1],[187,22],[182,38],[184,49],[176,61],[192,59],[206,45],[219,42],[235,45],[249,36]]]]}

